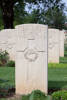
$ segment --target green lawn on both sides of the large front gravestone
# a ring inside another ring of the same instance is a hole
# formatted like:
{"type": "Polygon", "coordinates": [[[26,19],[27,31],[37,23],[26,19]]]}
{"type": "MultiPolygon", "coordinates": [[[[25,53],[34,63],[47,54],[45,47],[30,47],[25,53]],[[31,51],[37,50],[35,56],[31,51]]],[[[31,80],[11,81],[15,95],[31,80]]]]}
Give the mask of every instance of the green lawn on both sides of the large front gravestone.
{"type": "MultiPolygon", "coordinates": [[[[15,68],[0,67],[0,86],[15,86],[15,68]]],[[[67,64],[48,64],[49,88],[67,88],[67,64]]]]}

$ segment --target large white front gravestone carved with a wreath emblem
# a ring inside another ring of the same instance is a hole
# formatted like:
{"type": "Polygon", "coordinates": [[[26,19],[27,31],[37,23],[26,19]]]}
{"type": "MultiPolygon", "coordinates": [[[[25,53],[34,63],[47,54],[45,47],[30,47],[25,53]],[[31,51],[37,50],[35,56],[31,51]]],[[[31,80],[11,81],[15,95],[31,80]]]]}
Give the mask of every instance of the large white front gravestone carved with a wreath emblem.
{"type": "Polygon", "coordinates": [[[41,90],[47,94],[47,26],[24,24],[16,27],[16,94],[41,90]]]}

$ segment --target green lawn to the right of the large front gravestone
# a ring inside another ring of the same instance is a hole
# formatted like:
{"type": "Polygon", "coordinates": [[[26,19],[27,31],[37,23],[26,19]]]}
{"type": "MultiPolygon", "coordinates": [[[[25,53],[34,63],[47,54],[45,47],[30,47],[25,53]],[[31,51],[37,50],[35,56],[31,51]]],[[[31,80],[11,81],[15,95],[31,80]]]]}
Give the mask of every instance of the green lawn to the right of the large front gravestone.
{"type": "Polygon", "coordinates": [[[48,65],[49,89],[67,89],[67,64],[48,65]]]}

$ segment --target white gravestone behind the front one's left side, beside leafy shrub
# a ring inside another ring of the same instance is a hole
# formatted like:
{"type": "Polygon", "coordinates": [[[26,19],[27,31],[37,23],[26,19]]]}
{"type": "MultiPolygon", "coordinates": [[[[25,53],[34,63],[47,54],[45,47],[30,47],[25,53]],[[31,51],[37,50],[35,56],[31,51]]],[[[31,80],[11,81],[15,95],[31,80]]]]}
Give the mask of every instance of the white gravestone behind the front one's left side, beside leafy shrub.
{"type": "Polygon", "coordinates": [[[15,60],[16,29],[5,29],[0,31],[0,49],[7,51],[11,60],[15,60]]]}

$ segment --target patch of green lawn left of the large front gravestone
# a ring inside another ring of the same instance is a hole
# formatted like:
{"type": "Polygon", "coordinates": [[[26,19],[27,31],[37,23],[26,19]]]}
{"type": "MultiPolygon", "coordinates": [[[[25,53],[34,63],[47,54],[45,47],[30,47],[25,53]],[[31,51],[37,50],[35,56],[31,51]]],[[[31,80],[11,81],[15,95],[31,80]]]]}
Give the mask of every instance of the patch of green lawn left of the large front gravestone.
{"type": "Polygon", "coordinates": [[[15,68],[0,67],[0,86],[15,86],[15,68]]]}

